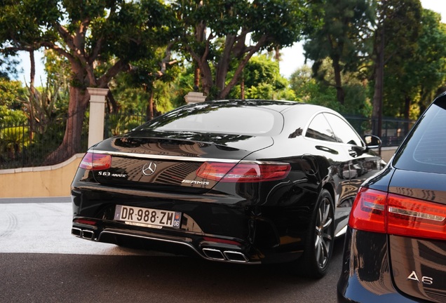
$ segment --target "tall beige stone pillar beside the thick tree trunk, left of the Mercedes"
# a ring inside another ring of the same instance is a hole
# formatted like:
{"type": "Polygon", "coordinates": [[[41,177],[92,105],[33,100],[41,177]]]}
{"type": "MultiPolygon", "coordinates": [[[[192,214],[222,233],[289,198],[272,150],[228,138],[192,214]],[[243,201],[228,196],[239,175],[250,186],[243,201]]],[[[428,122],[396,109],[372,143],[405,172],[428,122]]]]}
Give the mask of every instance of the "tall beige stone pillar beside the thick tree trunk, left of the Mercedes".
{"type": "Polygon", "coordinates": [[[88,121],[88,147],[104,140],[105,96],[108,88],[87,88],[90,94],[90,120],[88,121]]]}

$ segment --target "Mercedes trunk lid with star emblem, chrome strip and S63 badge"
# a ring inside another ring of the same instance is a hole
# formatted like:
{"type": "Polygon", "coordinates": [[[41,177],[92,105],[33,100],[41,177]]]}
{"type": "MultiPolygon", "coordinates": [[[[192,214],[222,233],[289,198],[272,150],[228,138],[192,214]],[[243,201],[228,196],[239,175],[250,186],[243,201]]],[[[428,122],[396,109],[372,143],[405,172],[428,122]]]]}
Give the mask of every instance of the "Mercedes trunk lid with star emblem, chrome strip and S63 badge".
{"type": "Polygon", "coordinates": [[[107,169],[93,170],[97,182],[112,187],[205,192],[217,184],[197,175],[206,161],[236,165],[271,146],[271,137],[250,135],[151,133],[104,140],[92,151],[111,156],[107,169]],[[161,135],[163,137],[161,137],[161,135]]]}

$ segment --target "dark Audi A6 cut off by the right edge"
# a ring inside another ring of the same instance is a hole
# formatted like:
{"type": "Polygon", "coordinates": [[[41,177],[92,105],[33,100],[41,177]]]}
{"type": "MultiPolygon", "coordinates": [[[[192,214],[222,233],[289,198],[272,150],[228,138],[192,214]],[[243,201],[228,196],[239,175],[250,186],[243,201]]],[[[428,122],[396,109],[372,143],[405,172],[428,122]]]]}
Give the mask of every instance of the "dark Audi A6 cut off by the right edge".
{"type": "Polygon", "coordinates": [[[446,95],[360,189],[339,302],[446,302],[446,95]]]}

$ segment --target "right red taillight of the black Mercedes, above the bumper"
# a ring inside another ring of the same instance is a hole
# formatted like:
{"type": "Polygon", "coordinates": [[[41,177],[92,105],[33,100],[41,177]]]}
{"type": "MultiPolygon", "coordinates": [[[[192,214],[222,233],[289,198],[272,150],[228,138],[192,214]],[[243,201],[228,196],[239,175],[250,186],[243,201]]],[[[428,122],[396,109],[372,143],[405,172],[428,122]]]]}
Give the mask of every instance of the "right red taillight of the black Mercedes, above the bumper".
{"type": "Polygon", "coordinates": [[[281,180],[290,173],[287,163],[219,163],[205,162],[196,174],[207,180],[221,182],[263,182],[281,180]]]}

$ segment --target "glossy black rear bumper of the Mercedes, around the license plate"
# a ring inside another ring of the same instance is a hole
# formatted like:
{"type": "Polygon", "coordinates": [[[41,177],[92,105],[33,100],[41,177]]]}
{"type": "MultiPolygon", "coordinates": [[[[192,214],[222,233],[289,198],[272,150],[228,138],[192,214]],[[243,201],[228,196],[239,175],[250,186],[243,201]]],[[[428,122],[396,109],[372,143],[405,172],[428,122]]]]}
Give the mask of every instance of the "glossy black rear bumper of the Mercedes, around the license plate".
{"type": "Polygon", "coordinates": [[[290,224],[302,225],[303,220],[296,220],[292,208],[252,206],[234,196],[152,194],[75,187],[72,234],[90,241],[221,262],[289,262],[302,255],[304,229],[290,224]],[[180,212],[181,227],[154,229],[115,221],[116,204],[180,212]]]}

